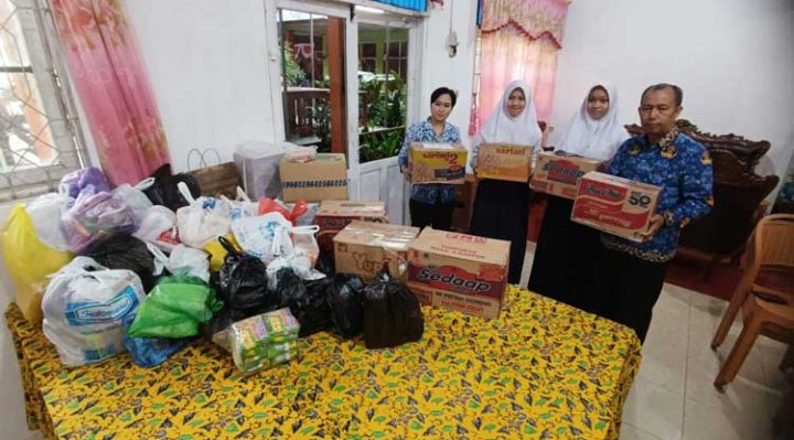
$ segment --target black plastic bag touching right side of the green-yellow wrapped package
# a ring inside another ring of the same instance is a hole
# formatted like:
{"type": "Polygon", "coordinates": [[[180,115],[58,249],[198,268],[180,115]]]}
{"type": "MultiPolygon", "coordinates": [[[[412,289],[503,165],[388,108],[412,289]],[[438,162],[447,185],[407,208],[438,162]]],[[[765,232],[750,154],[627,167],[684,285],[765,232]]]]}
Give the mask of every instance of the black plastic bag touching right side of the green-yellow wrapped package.
{"type": "Polygon", "coordinates": [[[281,307],[287,307],[301,324],[299,337],[314,334],[331,326],[331,312],[325,302],[326,278],[303,283],[292,269],[276,273],[281,307]]]}

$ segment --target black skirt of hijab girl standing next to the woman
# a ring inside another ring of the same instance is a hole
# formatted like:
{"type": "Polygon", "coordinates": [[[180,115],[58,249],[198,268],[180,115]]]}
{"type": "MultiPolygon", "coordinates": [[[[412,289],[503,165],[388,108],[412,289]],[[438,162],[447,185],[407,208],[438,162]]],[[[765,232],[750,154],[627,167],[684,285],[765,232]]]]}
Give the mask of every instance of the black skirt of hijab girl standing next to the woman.
{"type": "Polygon", "coordinates": [[[526,253],[529,186],[521,182],[484,179],[478,184],[471,234],[511,242],[507,280],[521,280],[526,253]]]}

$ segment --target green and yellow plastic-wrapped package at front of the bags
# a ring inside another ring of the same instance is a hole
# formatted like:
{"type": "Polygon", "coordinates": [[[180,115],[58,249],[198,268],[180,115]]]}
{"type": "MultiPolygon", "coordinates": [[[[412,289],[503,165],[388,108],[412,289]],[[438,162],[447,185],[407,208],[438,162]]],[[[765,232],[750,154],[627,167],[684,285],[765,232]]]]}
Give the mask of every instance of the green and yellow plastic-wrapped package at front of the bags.
{"type": "Polygon", "coordinates": [[[244,373],[269,368],[300,356],[300,324],[289,309],[235,322],[229,329],[234,363],[244,373]]]}

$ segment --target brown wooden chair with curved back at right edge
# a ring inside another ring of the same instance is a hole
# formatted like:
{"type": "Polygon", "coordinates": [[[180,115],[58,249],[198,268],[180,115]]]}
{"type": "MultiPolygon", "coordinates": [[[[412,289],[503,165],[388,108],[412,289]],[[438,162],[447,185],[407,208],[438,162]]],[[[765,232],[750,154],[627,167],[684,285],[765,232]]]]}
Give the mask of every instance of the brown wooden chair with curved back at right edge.
{"type": "Polygon", "coordinates": [[[725,342],[739,309],[743,326],[715,379],[713,385],[720,390],[733,380],[759,334],[794,342],[794,214],[763,217],[753,230],[744,275],[722,315],[711,348],[725,342]]]}

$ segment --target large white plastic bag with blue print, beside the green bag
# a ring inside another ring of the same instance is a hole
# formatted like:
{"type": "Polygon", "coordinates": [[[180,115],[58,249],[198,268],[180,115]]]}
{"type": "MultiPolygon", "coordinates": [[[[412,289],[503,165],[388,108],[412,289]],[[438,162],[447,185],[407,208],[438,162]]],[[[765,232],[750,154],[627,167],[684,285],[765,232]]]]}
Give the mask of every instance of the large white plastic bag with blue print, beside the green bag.
{"type": "Polygon", "coordinates": [[[44,335],[64,365],[105,361],[126,350],[121,322],[138,312],[144,298],[135,272],[76,257],[52,277],[44,293],[44,335]]]}

